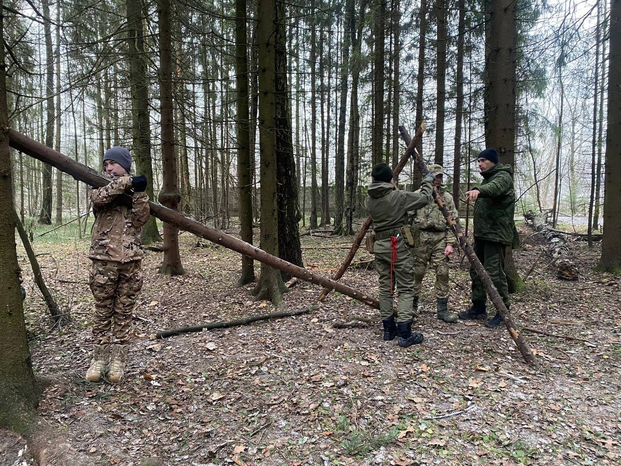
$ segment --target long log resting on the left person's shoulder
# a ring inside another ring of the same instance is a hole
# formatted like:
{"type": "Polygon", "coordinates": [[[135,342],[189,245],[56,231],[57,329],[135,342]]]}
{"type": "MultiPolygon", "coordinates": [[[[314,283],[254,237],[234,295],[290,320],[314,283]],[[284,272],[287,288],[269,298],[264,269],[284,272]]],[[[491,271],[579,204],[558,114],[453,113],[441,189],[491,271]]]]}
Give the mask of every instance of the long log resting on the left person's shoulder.
{"type": "MultiPolygon", "coordinates": [[[[73,176],[75,180],[83,181],[87,185],[99,187],[105,186],[109,183],[107,178],[101,175],[101,173],[93,170],[93,168],[86,167],[85,165],[66,157],[60,152],[56,152],[52,148],[30,139],[14,129],[9,129],[9,144],[12,148],[30,155],[30,157],[49,163],[53,167],[58,168],[58,170],[64,171],[65,173],[73,176]]],[[[127,197],[129,198],[129,196],[127,197]]],[[[131,201],[131,199],[129,199],[129,201],[131,201]]],[[[163,222],[173,224],[181,230],[189,231],[197,236],[210,240],[215,244],[224,246],[227,249],[232,249],[235,252],[252,257],[259,262],[271,265],[271,267],[278,268],[278,270],[283,270],[291,276],[297,276],[297,278],[301,280],[309,281],[315,285],[324,286],[329,290],[336,290],[342,295],[358,299],[358,301],[361,301],[372,308],[379,309],[378,300],[372,298],[363,291],[355,290],[350,286],[338,283],[338,281],[330,280],[327,276],[311,272],[306,270],[306,268],[297,267],[297,265],[268,254],[264,250],[259,249],[252,244],[248,244],[247,242],[237,239],[234,236],[200,224],[199,222],[189,219],[179,212],[168,209],[159,203],[149,201],[149,208],[151,209],[151,214],[153,216],[163,222]]]]}

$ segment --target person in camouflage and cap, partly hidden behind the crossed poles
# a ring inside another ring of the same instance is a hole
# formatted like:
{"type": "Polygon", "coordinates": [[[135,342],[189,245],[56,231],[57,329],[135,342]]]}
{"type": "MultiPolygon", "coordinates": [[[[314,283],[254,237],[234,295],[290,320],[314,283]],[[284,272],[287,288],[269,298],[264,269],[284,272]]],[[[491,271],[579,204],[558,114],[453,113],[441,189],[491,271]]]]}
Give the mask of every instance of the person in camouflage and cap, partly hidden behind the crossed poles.
{"type": "MultiPolygon", "coordinates": [[[[433,185],[438,190],[448,211],[457,220],[453,196],[446,192],[443,185],[444,168],[433,164],[427,167],[435,175],[433,185]]],[[[435,267],[435,298],[437,301],[438,319],[445,322],[456,322],[457,316],[448,311],[448,257],[453,254],[457,245],[455,235],[451,233],[446,219],[435,202],[427,204],[422,209],[412,212],[412,227],[420,232],[419,245],[412,248],[414,260],[414,313],[418,310],[419,295],[422,281],[427,272],[427,263],[435,267]]]]}

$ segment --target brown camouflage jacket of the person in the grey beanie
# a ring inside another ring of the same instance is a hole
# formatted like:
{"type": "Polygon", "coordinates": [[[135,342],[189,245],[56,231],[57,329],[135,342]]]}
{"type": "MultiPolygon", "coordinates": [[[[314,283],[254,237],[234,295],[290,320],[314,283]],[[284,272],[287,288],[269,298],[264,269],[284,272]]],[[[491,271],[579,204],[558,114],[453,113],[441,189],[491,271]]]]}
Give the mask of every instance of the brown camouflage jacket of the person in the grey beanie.
{"type": "Polygon", "coordinates": [[[130,175],[115,176],[101,188],[90,188],[89,195],[96,216],[88,257],[112,262],[141,260],[142,226],[149,219],[147,193],[132,194],[132,206],[116,198],[132,186],[130,175]]]}

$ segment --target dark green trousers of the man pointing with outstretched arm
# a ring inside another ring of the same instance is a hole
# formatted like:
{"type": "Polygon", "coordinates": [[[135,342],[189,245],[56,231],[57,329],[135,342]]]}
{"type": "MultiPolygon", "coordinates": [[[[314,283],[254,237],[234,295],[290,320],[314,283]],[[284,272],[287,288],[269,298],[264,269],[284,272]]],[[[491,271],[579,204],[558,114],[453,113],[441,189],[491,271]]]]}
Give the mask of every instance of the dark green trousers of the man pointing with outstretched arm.
{"type": "MultiPolygon", "coordinates": [[[[474,239],[473,249],[476,257],[479,258],[483,267],[492,279],[496,290],[500,293],[502,301],[509,308],[509,288],[507,286],[507,276],[504,273],[504,253],[505,245],[493,241],[485,241],[474,239]]],[[[487,293],[483,281],[470,266],[470,278],[472,279],[472,302],[477,301],[485,303],[487,301],[487,293]]]]}

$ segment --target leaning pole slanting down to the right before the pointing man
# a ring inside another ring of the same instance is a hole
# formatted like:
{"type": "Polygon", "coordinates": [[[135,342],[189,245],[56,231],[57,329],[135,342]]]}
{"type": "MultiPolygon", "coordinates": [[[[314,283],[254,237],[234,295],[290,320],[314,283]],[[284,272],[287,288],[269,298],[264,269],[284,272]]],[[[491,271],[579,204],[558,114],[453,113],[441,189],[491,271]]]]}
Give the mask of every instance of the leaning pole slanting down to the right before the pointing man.
{"type": "MultiPolygon", "coordinates": [[[[406,127],[399,126],[399,132],[401,132],[401,137],[409,147],[412,139],[410,138],[410,135],[407,134],[406,127]]],[[[415,152],[414,163],[418,165],[418,167],[420,168],[420,172],[423,174],[423,176],[427,175],[427,167],[425,167],[425,163],[423,162],[422,157],[420,157],[418,151],[415,152]]],[[[494,303],[494,306],[496,306],[496,309],[498,309],[498,313],[501,314],[502,321],[504,322],[505,327],[507,327],[511,338],[515,342],[515,345],[517,345],[520,352],[522,353],[522,357],[524,357],[524,360],[527,363],[537,365],[537,359],[535,358],[535,355],[530,349],[528,342],[526,341],[522,333],[517,330],[511,313],[509,312],[509,309],[505,307],[501,295],[498,293],[498,290],[496,290],[496,286],[494,286],[492,279],[487,274],[479,258],[476,257],[476,254],[474,254],[474,249],[471,245],[468,244],[465,235],[461,231],[460,224],[455,221],[455,219],[453,218],[453,214],[451,214],[451,212],[446,208],[446,204],[444,203],[442,196],[438,194],[435,186],[433,188],[433,200],[435,201],[438,208],[440,209],[440,212],[442,212],[444,218],[446,219],[446,223],[450,226],[451,230],[459,240],[461,249],[463,249],[466,253],[466,256],[468,257],[470,263],[473,265],[474,270],[476,270],[476,273],[479,275],[479,277],[481,277],[481,281],[483,281],[483,285],[487,290],[487,295],[489,295],[489,299],[491,299],[492,303],[494,303]]]]}

